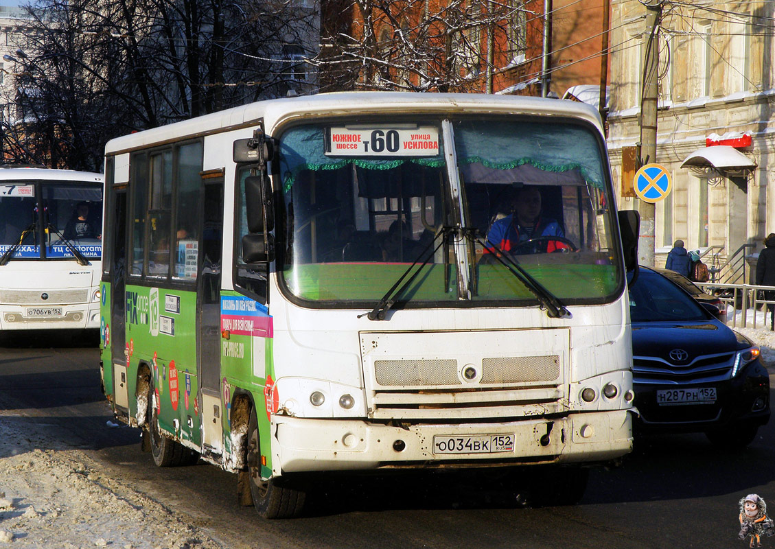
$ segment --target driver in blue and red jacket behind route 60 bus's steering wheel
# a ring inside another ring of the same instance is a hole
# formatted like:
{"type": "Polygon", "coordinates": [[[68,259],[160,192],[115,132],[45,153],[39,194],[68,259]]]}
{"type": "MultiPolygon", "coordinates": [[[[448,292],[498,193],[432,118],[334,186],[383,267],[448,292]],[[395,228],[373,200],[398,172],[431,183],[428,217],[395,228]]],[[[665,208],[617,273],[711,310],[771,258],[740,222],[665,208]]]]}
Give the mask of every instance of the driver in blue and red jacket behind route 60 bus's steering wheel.
{"type": "Polygon", "coordinates": [[[565,232],[553,218],[541,215],[541,191],[538,187],[521,187],[512,195],[512,213],[496,220],[487,232],[487,245],[484,253],[543,253],[565,249],[567,245],[560,240],[542,238],[535,246],[525,242],[540,237],[558,236],[564,238],[565,232]]]}

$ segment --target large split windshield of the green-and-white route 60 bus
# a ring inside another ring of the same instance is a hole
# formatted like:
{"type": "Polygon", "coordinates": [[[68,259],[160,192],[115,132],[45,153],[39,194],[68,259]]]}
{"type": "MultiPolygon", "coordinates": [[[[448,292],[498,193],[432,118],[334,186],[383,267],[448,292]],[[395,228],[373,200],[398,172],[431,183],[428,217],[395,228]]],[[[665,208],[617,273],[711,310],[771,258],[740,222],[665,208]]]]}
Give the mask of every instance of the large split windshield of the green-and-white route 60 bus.
{"type": "Polygon", "coordinates": [[[604,148],[586,125],[307,124],[279,151],[281,278],[300,300],[362,306],[415,262],[406,307],[535,304],[514,263],[566,304],[621,288],[604,148]]]}

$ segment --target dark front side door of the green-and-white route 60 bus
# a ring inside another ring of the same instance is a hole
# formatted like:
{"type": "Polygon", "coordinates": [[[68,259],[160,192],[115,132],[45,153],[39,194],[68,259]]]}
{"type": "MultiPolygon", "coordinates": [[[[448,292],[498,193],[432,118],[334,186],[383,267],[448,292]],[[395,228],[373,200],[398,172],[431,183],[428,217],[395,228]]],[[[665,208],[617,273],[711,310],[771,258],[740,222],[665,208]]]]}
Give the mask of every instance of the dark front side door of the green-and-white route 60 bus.
{"type": "Polygon", "coordinates": [[[222,407],[221,256],[223,242],[223,180],[204,180],[202,270],[197,282],[197,373],[202,388],[202,442],[220,448],[222,407]]]}

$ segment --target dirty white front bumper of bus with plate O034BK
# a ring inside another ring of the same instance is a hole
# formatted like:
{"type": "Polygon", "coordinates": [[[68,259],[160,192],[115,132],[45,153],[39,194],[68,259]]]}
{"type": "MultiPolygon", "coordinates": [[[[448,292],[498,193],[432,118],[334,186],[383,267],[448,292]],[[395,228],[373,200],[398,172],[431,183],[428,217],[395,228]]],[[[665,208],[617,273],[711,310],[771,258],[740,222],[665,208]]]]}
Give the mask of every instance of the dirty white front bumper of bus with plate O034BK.
{"type": "Polygon", "coordinates": [[[509,423],[393,427],[363,420],[274,416],[274,475],[378,468],[608,462],[632,450],[628,410],[509,423]],[[509,435],[513,435],[510,439],[509,435]],[[500,437],[500,438],[498,438],[500,437]],[[503,438],[506,437],[506,438],[503,438]],[[487,441],[491,441],[487,443],[487,441]],[[492,441],[512,441],[495,451],[492,441]],[[456,452],[446,453],[450,444],[456,452]],[[478,451],[470,451],[478,449],[478,451]]]}

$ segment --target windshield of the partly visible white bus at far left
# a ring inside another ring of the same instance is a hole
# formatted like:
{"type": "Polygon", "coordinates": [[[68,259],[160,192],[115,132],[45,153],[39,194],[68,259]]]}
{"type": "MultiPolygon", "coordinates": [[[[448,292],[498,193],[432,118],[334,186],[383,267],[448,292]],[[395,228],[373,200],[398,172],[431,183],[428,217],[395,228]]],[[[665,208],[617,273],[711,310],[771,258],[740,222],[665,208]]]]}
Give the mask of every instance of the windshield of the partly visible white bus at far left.
{"type": "Polygon", "coordinates": [[[102,186],[56,181],[0,185],[0,254],[12,259],[102,256],[102,186]]]}

